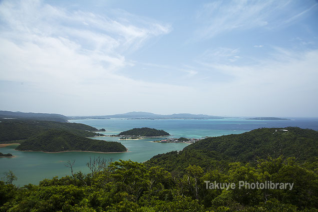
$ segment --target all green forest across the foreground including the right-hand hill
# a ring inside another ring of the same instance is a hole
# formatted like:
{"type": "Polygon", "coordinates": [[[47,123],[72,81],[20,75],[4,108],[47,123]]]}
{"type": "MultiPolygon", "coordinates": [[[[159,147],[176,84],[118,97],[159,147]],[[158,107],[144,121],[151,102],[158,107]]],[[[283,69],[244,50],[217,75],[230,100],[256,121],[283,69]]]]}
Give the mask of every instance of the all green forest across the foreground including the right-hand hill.
{"type": "Polygon", "coordinates": [[[12,184],[9,171],[0,181],[0,211],[317,211],[317,133],[256,129],[206,138],[146,163],[91,158],[88,174],[74,173],[69,161],[70,176],[23,187],[12,184]],[[292,187],[207,188],[242,181],[292,187]]]}

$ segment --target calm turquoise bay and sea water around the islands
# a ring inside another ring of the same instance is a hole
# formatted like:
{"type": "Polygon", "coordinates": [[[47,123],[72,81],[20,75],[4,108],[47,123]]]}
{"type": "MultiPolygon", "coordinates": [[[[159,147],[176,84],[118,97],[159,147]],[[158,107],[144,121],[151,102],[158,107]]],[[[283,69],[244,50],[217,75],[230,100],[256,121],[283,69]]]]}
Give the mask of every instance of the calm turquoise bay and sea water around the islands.
{"type": "MultiPolygon", "coordinates": [[[[203,136],[220,136],[227,134],[238,134],[260,127],[286,127],[298,126],[318,130],[318,118],[290,118],[293,120],[261,121],[245,120],[240,118],[208,119],[208,120],[127,120],[127,119],[86,119],[70,120],[70,122],[88,124],[96,128],[105,128],[105,135],[117,134],[121,131],[134,127],[151,127],[163,129],[171,134],[170,137],[200,138],[203,136]]],[[[113,160],[133,160],[144,162],[152,156],[174,150],[182,150],[188,144],[185,143],[154,143],[156,139],[142,140],[119,140],[118,137],[98,137],[94,139],[120,141],[129,152],[126,153],[91,153],[91,152],[21,152],[17,151],[17,145],[0,148],[0,152],[12,153],[14,158],[0,158],[0,176],[12,170],[18,177],[17,185],[28,183],[37,184],[44,178],[53,176],[65,176],[70,174],[69,168],[65,166],[68,160],[76,160],[75,171],[81,170],[88,173],[86,163],[89,157],[103,156],[113,160]]]]}

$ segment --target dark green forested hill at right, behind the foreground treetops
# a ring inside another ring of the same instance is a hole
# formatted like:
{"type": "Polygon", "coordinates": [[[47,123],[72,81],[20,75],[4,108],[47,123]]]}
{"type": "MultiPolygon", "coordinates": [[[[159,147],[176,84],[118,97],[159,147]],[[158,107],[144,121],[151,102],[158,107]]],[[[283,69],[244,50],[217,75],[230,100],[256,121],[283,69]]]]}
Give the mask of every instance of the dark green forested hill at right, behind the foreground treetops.
{"type": "Polygon", "coordinates": [[[188,165],[205,168],[222,161],[254,161],[257,158],[295,157],[297,161],[317,161],[318,132],[297,127],[261,128],[242,134],[211,137],[195,142],[182,151],[152,157],[147,165],[167,170],[184,170],[188,165]]]}

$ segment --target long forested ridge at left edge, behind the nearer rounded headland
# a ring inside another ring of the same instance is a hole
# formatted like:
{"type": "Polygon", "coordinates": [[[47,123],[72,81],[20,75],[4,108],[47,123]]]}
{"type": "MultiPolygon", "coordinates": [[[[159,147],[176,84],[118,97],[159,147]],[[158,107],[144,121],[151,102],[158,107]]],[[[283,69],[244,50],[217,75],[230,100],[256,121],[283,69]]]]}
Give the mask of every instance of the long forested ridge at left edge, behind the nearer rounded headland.
{"type": "Polygon", "coordinates": [[[98,129],[85,124],[7,119],[0,122],[0,142],[28,139],[49,129],[67,130],[84,137],[99,135],[94,132],[98,129]]]}

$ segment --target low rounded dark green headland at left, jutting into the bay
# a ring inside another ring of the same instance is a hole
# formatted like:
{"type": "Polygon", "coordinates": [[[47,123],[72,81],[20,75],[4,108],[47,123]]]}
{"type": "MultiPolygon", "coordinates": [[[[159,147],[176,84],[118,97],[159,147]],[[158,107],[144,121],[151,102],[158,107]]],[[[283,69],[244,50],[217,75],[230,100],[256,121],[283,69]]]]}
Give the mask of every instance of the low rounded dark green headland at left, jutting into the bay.
{"type": "Polygon", "coordinates": [[[51,129],[37,136],[27,139],[17,150],[32,151],[96,151],[123,152],[125,146],[118,142],[108,142],[80,137],[65,130],[51,129]]]}

